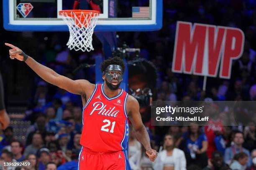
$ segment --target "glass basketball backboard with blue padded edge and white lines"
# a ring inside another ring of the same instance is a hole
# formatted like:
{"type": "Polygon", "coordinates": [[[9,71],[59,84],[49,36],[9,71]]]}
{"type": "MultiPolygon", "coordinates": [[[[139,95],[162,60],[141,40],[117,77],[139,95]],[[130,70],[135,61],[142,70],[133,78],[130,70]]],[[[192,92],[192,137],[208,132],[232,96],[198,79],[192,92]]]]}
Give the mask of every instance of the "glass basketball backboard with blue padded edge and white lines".
{"type": "MultiPolygon", "coordinates": [[[[3,0],[4,28],[13,31],[68,31],[60,10],[73,0],[3,0]]],[[[162,0],[102,0],[95,31],[151,31],[162,27],[162,0]]]]}

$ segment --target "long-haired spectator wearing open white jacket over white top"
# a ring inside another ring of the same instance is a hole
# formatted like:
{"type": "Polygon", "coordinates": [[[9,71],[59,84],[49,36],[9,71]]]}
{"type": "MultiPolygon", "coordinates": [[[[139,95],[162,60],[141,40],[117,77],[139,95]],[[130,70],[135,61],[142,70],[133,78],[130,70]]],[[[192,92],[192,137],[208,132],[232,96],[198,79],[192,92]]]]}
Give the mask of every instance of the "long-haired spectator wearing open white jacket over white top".
{"type": "Polygon", "coordinates": [[[174,135],[167,134],[164,137],[164,150],[162,150],[154,163],[155,170],[186,170],[186,158],[184,152],[175,148],[174,135]]]}

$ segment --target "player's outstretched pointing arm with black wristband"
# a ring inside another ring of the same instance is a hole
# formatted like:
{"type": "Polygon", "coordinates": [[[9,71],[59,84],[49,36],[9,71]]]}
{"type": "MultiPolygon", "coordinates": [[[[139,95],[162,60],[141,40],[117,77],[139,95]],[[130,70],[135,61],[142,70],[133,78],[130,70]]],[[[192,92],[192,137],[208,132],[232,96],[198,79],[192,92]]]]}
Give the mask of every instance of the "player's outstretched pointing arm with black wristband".
{"type": "Polygon", "coordinates": [[[10,59],[17,59],[20,61],[26,62],[26,64],[31,67],[31,69],[36,72],[42,79],[46,82],[49,82],[53,85],[56,85],[62,89],[65,89],[71,93],[81,95],[83,94],[87,88],[93,86],[87,80],[71,80],[68,77],[64,77],[59,75],[54,70],[41,65],[40,63],[36,62],[32,57],[26,55],[22,50],[14,45],[5,43],[5,45],[11,47],[12,49],[9,50],[10,59]]]}

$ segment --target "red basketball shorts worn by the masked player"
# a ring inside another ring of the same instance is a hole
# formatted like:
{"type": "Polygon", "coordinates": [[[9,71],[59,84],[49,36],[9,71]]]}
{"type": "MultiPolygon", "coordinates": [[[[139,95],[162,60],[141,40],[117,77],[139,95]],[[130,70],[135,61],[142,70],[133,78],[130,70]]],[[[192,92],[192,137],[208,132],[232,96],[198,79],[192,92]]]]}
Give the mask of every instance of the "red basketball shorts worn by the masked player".
{"type": "Polygon", "coordinates": [[[98,153],[82,147],[79,154],[78,170],[130,170],[129,167],[122,150],[98,153]]]}

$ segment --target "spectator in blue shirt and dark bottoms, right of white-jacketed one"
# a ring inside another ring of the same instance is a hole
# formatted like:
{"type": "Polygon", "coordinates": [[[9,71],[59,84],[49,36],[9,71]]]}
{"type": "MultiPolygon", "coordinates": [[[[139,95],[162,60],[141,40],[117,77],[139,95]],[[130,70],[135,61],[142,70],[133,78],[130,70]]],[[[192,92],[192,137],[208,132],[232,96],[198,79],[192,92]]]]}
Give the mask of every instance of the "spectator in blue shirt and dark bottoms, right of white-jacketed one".
{"type": "Polygon", "coordinates": [[[207,166],[207,137],[201,133],[198,125],[191,123],[188,133],[183,135],[187,165],[195,164],[204,168],[207,166]]]}

